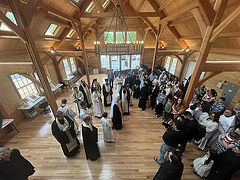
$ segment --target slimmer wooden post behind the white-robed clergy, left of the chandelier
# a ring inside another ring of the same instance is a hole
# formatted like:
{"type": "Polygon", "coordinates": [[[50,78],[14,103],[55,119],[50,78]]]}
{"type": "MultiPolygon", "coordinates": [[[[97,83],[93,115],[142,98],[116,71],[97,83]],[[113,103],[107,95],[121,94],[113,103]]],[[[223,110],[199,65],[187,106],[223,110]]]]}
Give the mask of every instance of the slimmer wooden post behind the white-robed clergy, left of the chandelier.
{"type": "Polygon", "coordinates": [[[83,38],[83,31],[82,31],[82,24],[81,24],[81,20],[79,25],[76,25],[75,23],[72,23],[74,29],[76,30],[76,32],[78,33],[78,36],[80,38],[81,41],[81,46],[82,46],[82,57],[83,60],[85,62],[85,72],[86,72],[86,76],[87,76],[87,82],[88,82],[88,86],[91,87],[91,83],[90,83],[90,77],[89,77],[89,71],[88,71],[88,60],[87,60],[87,53],[86,53],[86,49],[85,49],[85,45],[84,45],[84,38],[83,38]]]}

